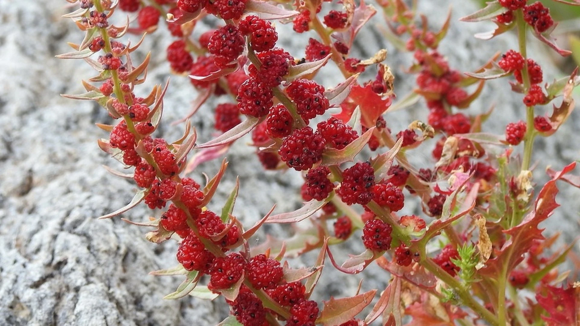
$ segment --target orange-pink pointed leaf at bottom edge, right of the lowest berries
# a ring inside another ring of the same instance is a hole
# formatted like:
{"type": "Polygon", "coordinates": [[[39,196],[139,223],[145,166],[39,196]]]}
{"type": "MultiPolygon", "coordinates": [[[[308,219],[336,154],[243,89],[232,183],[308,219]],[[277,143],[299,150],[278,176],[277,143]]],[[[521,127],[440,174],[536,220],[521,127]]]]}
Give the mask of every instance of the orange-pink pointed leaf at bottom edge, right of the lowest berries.
{"type": "Polygon", "coordinates": [[[325,326],[338,326],[346,323],[370,305],[375,294],[376,290],[371,290],[350,298],[334,299],[331,297],[330,300],[324,301],[324,308],[322,308],[316,323],[322,323],[325,326]]]}

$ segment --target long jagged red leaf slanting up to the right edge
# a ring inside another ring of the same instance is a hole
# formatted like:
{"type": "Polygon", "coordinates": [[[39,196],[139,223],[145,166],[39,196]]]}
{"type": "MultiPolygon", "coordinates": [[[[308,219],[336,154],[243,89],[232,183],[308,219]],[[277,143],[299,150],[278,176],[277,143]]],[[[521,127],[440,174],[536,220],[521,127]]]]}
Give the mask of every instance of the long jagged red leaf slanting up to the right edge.
{"type": "Polygon", "coordinates": [[[560,206],[556,203],[556,194],[558,193],[556,182],[566,173],[572,171],[575,166],[575,162],[568,164],[542,187],[536,198],[533,211],[528,213],[519,225],[503,231],[503,233],[509,234],[509,240],[495,258],[487,261],[485,266],[480,269],[480,273],[486,276],[497,276],[502,269],[513,270],[523,259],[523,254],[530,250],[534,240],[544,238],[542,236],[543,229],[538,229],[538,224],[548,219],[554,209],[560,206]]]}

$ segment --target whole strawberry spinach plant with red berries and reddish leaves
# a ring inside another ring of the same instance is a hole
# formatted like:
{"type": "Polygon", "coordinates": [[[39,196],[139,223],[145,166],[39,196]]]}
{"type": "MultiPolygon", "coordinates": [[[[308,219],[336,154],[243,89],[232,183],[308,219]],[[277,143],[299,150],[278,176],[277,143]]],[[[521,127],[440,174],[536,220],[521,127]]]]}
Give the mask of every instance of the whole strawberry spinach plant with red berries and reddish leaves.
{"type": "Polygon", "coordinates": [[[166,299],[223,296],[231,316],[220,325],[580,324],[577,273],[557,268],[572,244],[553,249],[556,237],[546,238],[538,227],[559,206],[558,183],[580,187],[580,177],[571,173],[575,162],[548,169],[545,184],[535,185],[531,172],[534,140],[557,132],[580,84],[578,69],[550,82],[550,72],[527,51],[534,37],[561,56],[571,54],[554,41],[557,23],[541,2],[496,0],[463,17],[496,24],[477,34],[480,39],[511,31],[519,44],[462,73],[438,50],[451,17],[432,31],[417,1],[67,1],[75,9],[65,17],[85,36],[59,57],[84,59],[97,74],[83,81],[86,93],[64,96],[96,101],[117,121],[98,125],[109,133],[99,146],[132,171],[111,172],[140,188],[126,207],[102,218],[141,202],[158,210],[157,219],[137,224],[154,228],[150,241],[179,242],[179,265],[154,272],[184,279],[166,299]],[[369,58],[350,54],[358,32],[379,12],[385,38],[412,56],[405,73],[416,87],[405,96],[394,96],[386,50],[369,58]],[[122,26],[110,23],[127,15],[132,18],[122,26]],[[194,37],[202,19],[219,27],[194,37]],[[276,25],[283,24],[292,27],[292,37],[309,38],[304,58],[278,46],[276,25]],[[166,49],[172,72],[188,76],[198,90],[193,110],[180,121],[183,137],[173,142],[155,136],[169,85],[141,89],[150,56],[142,63],[131,59],[158,28],[175,38],[166,49]],[[128,33],[143,35],[142,41],[131,44],[128,33]],[[314,79],[331,65],[342,76],[325,88],[314,79]],[[369,72],[374,77],[363,78],[369,72]],[[483,122],[497,113],[469,111],[488,79],[521,98],[521,120],[508,124],[505,135],[485,131],[483,122]],[[136,96],[142,92],[148,95],[136,96]],[[219,136],[200,144],[189,118],[211,97],[229,102],[213,107],[219,136]],[[390,111],[415,103],[429,113],[391,131],[390,111]],[[248,133],[264,169],[295,169],[305,179],[302,208],[272,210],[249,227],[233,213],[238,184],[219,203],[221,211],[207,208],[226,160],[205,184],[187,177],[248,133]],[[432,150],[429,168],[409,163],[407,155],[419,148],[432,150]],[[421,213],[398,213],[414,198],[421,213]],[[264,223],[306,219],[313,227],[296,228],[291,238],[249,241],[264,223]],[[366,250],[333,255],[333,246],[345,241],[362,241],[366,250]],[[310,251],[319,252],[311,268],[292,268],[286,260],[310,251]],[[373,263],[390,277],[386,288],[321,304],[310,299],[325,269],[356,274],[373,263]]]}

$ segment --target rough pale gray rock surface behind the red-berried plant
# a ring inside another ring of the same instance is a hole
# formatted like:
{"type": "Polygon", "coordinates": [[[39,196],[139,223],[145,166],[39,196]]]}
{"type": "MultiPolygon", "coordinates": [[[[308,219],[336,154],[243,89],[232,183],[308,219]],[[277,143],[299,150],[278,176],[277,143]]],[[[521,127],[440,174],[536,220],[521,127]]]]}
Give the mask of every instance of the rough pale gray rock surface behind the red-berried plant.
{"type": "MultiPolygon", "coordinates": [[[[422,10],[429,12],[434,26],[438,26],[448,2],[445,7],[438,1],[421,3],[422,10]]],[[[454,19],[476,8],[471,2],[449,3],[455,5],[454,19]]],[[[79,42],[82,38],[71,21],[60,18],[66,13],[65,6],[65,1],[0,0],[0,325],[217,324],[227,314],[223,302],[189,297],[162,300],[179,285],[180,277],[148,275],[149,271],[176,265],[175,242],[154,245],[144,239],[141,227],[119,218],[96,220],[129,202],[135,186],[108,174],[101,166],[120,167],[96,145],[96,139],[106,135],[94,124],[110,121],[104,110],[93,103],[58,96],[81,93],[81,79],[93,74],[82,61],[54,57],[69,51],[67,41],[79,42]]],[[[374,23],[380,23],[379,16],[374,23]]],[[[473,39],[474,32],[484,30],[481,24],[453,26],[441,50],[452,66],[461,70],[471,70],[497,50],[516,44],[514,35],[484,43],[473,39]]],[[[304,40],[289,38],[288,33],[281,35],[284,47],[294,49],[295,56],[303,55],[303,44],[299,42],[304,40]]],[[[169,77],[163,50],[169,42],[168,35],[160,31],[142,46],[156,47],[148,81],[140,88],[143,93],[169,77]]],[[[374,53],[380,46],[376,32],[370,31],[364,32],[360,44],[365,46],[357,49],[361,56],[374,53]]],[[[408,57],[389,49],[388,62],[394,71],[401,71],[408,57]]],[[[533,53],[545,71],[554,71],[543,50],[533,53]]],[[[144,53],[137,53],[137,60],[143,56],[144,53]]],[[[412,80],[401,73],[396,77],[397,93],[403,95],[412,80]]],[[[328,74],[322,82],[331,86],[337,80],[328,74]]],[[[165,121],[182,117],[193,97],[186,78],[172,77],[165,98],[165,121]]],[[[474,111],[497,104],[495,118],[487,126],[501,131],[507,122],[523,117],[520,100],[502,82],[490,82],[474,111]]],[[[420,107],[387,116],[389,125],[393,129],[404,128],[425,113],[420,107]]],[[[207,106],[193,118],[201,141],[211,137],[211,121],[207,106]]],[[[557,139],[538,141],[541,151],[536,152],[535,159],[541,160],[540,172],[547,164],[560,168],[565,162],[578,159],[578,144],[561,141],[578,135],[578,122],[575,114],[557,139]]],[[[163,136],[176,139],[182,128],[170,129],[166,124],[163,136]]],[[[421,154],[412,158],[419,162],[426,159],[421,154]]],[[[264,173],[255,169],[258,160],[243,141],[232,148],[228,159],[230,168],[211,204],[213,208],[222,205],[236,175],[241,176],[241,190],[235,213],[246,225],[258,220],[274,203],[277,212],[298,207],[298,197],[292,197],[301,184],[298,173],[264,173]]],[[[211,175],[217,168],[218,162],[210,162],[193,174],[201,181],[201,171],[211,175]]],[[[566,204],[547,226],[552,231],[567,230],[565,235],[570,238],[578,230],[580,202],[574,198],[579,193],[571,187],[563,189],[559,200],[566,204]]],[[[124,217],[143,221],[149,214],[148,209],[139,206],[124,217]]],[[[270,226],[268,230],[288,232],[280,226],[270,226]]],[[[356,253],[361,251],[361,245],[343,249],[356,253]]],[[[299,266],[310,259],[295,263],[299,266]]],[[[326,272],[332,276],[321,281],[317,298],[353,294],[361,278],[343,276],[332,267],[326,272]]],[[[387,280],[380,270],[369,269],[364,287],[380,289],[387,280]]]]}

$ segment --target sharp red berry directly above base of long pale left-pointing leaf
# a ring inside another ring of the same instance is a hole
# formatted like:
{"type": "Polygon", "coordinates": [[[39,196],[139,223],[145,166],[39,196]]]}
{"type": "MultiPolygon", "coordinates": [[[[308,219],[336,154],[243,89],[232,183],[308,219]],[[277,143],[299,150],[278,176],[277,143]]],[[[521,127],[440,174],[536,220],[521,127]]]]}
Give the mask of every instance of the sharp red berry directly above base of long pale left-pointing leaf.
{"type": "Polygon", "coordinates": [[[272,90],[255,78],[250,78],[238,89],[238,107],[240,113],[252,117],[267,115],[272,107],[274,93],[272,90]]]}

